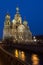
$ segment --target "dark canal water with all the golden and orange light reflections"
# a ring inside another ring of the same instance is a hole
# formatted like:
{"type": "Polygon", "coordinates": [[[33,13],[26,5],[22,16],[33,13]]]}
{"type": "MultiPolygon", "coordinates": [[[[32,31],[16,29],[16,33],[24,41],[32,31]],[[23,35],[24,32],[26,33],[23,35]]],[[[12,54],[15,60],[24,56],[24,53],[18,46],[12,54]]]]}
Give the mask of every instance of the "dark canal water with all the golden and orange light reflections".
{"type": "MultiPolygon", "coordinates": [[[[10,48],[11,49],[11,48],[10,48]]],[[[27,62],[30,65],[43,65],[43,53],[36,53],[33,51],[23,51],[18,49],[12,49],[10,52],[14,57],[21,59],[22,61],[27,62]]]]}

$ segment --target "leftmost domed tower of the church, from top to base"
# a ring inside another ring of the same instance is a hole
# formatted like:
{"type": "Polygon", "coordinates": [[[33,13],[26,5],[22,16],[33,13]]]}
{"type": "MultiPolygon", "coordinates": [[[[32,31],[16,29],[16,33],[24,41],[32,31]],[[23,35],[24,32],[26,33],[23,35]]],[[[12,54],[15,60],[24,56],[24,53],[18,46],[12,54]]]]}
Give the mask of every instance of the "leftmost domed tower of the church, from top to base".
{"type": "Polygon", "coordinates": [[[5,16],[4,29],[3,29],[3,39],[10,36],[10,15],[7,13],[5,16]]]}

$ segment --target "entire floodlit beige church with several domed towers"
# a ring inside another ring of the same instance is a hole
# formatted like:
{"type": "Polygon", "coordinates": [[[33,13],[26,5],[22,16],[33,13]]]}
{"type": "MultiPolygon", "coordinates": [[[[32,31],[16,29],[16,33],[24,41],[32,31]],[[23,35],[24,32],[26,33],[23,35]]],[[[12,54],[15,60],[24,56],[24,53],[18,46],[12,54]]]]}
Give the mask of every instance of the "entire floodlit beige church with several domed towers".
{"type": "Polygon", "coordinates": [[[16,8],[14,19],[10,20],[10,15],[5,16],[3,39],[13,38],[14,41],[28,41],[32,40],[32,33],[29,29],[28,22],[22,21],[19,13],[19,8],[16,8]]]}

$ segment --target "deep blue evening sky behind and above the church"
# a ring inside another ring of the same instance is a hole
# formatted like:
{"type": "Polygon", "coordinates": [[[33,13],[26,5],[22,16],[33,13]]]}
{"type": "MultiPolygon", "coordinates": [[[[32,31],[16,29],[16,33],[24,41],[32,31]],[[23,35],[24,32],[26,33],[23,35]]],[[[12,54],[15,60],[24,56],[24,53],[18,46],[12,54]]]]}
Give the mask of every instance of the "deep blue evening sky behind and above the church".
{"type": "Polygon", "coordinates": [[[22,18],[26,17],[33,35],[43,35],[43,0],[0,0],[0,38],[7,12],[14,18],[19,6],[22,18]]]}

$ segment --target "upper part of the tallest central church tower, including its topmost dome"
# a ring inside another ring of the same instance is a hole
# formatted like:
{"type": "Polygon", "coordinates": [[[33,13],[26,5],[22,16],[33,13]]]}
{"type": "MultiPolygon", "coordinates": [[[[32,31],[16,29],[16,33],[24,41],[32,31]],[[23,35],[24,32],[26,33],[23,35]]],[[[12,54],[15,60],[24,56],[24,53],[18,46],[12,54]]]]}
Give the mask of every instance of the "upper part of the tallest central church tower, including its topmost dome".
{"type": "Polygon", "coordinates": [[[16,8],[16,14],[15,14],[15,16],[14,16],[14,19],[13,19],[12,23],[13,23],[13,26],[16,26],[16,28],[17,28],[20,24],[22,24],[22,17],[21,17],[21,15],[20,15],[20,13],[19,13],[19,8],[18,8],[18,7],[16,8]]]}

